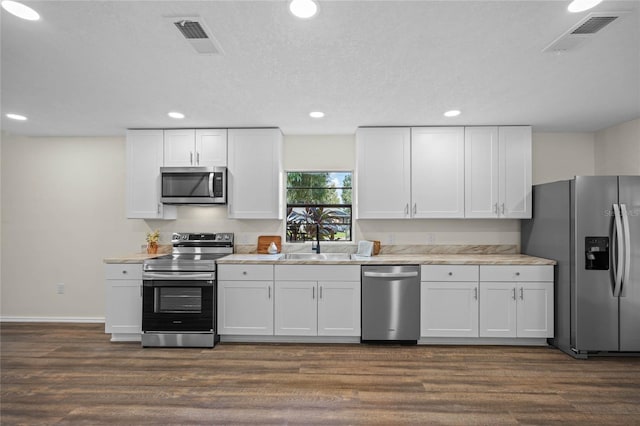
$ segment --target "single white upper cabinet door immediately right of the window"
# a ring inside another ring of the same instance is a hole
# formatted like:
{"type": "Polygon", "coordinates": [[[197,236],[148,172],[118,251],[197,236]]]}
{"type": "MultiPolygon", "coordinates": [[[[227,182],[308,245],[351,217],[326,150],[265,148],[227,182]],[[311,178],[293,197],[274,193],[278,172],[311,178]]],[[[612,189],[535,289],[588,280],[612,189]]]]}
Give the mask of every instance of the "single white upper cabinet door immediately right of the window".
{"type": "Polygon", "coordinates": [[[356,131],[356,217],[410,217],[411,132],[406,127],[356,131]]]}

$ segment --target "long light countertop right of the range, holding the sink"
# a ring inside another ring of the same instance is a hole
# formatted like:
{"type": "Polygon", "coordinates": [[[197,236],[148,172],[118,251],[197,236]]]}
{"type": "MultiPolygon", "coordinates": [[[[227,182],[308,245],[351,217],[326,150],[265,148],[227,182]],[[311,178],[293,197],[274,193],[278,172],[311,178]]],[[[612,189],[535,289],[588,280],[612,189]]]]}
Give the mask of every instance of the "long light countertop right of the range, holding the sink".
{"type": "Polygon", "coordinates": [[[281,259],[282,254],[232,254],[218,259],[219,264],[278,265],[555,265],[555,260],[523,254],[387,254],[348,260],[281,259]]]}

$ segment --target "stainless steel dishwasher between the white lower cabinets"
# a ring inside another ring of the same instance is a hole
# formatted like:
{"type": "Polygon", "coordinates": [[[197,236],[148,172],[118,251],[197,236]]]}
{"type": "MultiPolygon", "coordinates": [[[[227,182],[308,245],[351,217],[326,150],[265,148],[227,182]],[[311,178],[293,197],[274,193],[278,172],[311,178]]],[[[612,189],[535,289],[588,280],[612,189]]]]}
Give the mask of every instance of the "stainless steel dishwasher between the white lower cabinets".
{"type": "Polygon", "coordinates": [[[362,267],[362,341],[416,343],[420,337],[420,267],[362,267]]]}

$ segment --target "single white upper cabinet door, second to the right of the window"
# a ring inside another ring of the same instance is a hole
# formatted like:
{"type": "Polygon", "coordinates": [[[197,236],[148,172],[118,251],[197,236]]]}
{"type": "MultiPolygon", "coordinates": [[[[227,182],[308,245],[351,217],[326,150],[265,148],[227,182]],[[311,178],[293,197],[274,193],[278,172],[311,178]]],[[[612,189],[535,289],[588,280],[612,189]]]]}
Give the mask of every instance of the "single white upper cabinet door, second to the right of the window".
{"type": "Polygon", "coordinates": [[[411,129],[411,217],[464,217],[464,128],[411,129]]]}

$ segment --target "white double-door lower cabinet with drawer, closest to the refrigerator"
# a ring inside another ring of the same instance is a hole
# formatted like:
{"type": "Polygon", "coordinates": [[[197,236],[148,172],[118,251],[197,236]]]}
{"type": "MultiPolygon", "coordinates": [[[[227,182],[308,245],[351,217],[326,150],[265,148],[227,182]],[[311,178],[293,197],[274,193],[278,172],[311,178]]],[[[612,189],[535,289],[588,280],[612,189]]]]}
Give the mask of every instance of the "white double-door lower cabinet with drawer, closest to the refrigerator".
{"type": "Polygon", "coordinates": [[[553,266],[480,266],[480,337],[553,333],[553,266]]]}

